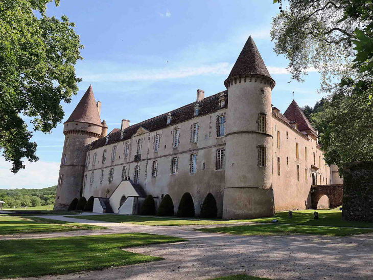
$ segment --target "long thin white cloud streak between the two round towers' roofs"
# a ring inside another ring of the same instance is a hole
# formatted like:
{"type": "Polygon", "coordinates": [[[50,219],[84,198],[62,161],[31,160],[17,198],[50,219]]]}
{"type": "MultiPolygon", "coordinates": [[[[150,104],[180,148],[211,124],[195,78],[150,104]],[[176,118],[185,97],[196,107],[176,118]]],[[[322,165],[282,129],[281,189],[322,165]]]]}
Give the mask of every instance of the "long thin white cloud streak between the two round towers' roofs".
{"type": "Polygon", "coordinates": [[[227,75],[232,69],[233,64],[220,62],[212,65],[200,67],[180,67],[175,69],[151,69],[144,71],[127,71],[117,73],[101,73],[93,75],[83,75],[85,81],[92,82],[123,82],[136,80],[165,80],[184,78],[199,75],[227,75]]]}

